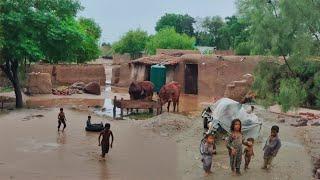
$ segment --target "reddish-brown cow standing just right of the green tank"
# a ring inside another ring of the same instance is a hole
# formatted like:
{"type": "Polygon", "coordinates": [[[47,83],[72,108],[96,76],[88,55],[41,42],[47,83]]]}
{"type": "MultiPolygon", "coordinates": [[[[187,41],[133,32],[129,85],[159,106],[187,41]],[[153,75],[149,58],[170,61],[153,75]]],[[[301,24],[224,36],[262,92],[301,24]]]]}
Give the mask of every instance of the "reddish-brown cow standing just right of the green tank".
{"type": "Polygon", "coordinates": [[[179,111],[179,98],[180,98],[180,91],[181,86],[177,82],[170,82],[166,85],[164,85],[159,92],[159,98],[160,98],[160,104],[161,104],[161,112],[162,112],[162,106],[165,103],[168,103],[168,112],[170,109],[170,103],[173,102],[173,112],[179,111]]]}

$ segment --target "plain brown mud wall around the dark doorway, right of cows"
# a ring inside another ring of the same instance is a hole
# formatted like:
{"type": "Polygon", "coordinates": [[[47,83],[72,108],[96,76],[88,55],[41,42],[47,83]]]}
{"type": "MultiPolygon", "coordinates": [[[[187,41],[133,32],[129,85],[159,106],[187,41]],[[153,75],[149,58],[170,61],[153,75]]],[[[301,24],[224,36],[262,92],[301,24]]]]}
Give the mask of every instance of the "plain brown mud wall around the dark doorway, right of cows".
{"type": "Polygon", "coordinates": [[[198,94],[203,96],[223,97],[226,86],[242,78],[244,74],[253,73],[254,68],[261,58],[246,57],[241,62],[240,56],[226,56],[223,60],[214,56],[199,56],[197,58],[186,58],[179,64],[176,81],[185,91],[184,64],[198,64],[198,94]]]}

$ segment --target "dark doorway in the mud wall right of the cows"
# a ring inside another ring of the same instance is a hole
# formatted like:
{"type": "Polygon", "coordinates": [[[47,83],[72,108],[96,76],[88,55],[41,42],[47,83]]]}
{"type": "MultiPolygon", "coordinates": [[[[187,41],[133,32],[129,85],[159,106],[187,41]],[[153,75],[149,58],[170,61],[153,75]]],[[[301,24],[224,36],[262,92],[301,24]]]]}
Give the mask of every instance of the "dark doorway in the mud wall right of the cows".
{"type": "Polygon", "coordinates": [[[198,94],[198,64],[186,64],[184,84],[186,94],[198,94]]]}

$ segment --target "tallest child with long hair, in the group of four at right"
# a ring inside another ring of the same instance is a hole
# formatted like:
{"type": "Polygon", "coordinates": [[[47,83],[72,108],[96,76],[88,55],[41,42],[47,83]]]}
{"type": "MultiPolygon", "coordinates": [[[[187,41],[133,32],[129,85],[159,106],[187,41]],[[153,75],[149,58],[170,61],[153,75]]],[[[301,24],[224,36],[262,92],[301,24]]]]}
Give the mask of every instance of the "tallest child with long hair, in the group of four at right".
{"type": "Polygon", "coordinates": [[[230,127],[231,134],[227,141],[227,148],[229,150],[230,166],[232,172],[241,175],[240,166],[242,161],[242,144],[244,142],[241,133],[240,119],[234,119],[230,127]]]}

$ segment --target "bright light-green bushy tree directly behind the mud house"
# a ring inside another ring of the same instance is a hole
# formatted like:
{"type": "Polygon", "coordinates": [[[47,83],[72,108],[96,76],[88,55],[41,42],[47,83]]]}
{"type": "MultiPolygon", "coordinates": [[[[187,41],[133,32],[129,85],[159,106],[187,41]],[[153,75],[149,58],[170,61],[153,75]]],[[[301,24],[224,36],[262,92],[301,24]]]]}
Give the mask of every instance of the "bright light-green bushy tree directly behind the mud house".
{"type": "Polygon", "coordinates": [[[165,28],[150,38],[150,41],[146,45],[146,51],[149,54],[155,54],[159,48],[194,49],[195,41],[193,37],[177,33],[174,28],[165,28]]]}

